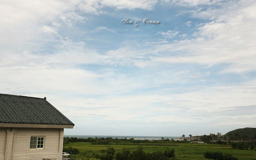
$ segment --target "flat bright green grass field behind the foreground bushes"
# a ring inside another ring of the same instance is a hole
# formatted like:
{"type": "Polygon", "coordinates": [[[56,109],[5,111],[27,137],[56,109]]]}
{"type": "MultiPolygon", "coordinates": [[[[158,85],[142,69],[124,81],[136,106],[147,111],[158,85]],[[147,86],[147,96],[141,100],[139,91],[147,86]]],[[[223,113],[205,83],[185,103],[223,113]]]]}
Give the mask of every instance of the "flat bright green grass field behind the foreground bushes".
{"type": "MultiPolygon", "coordinates": [[[[80,153],[76,155],[78,160],[96,160],[92,158],[92,154],[100,154],[100,150],[105,150],[107,147],[114,147],[116,152],[122,148],[135,150],[138,146],[143,146],[145,152],[153,152],[156,150],[165,150],[166,147],[174,148],[177,160],[207,160],[204,158],[206,151],[220,151],[236,156],[239,160],[256,160],[255,150],[235,150],[226,145],[212,145],[212,144],[190,144],[190,143],[110,143],[108,145],[91,144],[90,142],[74,142],[64,145],[64,147],[71,146],[77,148],[80,153]]],[[[75,155],[74,155],[75,156],[75,155]]],[[[72,156],[73,157],[73,156],[72,156]]]]}

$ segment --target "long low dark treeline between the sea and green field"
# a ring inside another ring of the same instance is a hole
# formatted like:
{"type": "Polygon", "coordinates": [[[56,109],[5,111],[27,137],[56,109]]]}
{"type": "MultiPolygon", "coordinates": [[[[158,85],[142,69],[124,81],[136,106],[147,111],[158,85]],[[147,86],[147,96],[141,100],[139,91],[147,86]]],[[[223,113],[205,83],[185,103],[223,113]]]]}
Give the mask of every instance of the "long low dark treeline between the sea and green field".
{"type": "Polygon", "coordinates": [[[134,140],[134,138],[77,138],[77,137],[64,137],[64,144],[68,144],[69,142],[91,142],[91,144],[109,144],[110,142],[118,144],[123,142],[130,142],[134,144],[139,143],[165,143],[165,142],[174,142],[174,143],[189,143],[190,141],[182,140],[182,141],[175,141],[173,139],[164,139],[161,140],[134,140]]]}

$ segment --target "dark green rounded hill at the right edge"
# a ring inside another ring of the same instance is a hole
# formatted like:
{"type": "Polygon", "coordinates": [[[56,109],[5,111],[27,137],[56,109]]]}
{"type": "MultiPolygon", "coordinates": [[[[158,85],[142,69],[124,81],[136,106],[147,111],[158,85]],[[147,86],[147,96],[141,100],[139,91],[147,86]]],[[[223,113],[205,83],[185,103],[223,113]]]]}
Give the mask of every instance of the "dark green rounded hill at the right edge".
{"type": "Polygon", "coordinates": [[[233,140],[256,140],[256,128],[239,128],[225,134],[233,140]]]}

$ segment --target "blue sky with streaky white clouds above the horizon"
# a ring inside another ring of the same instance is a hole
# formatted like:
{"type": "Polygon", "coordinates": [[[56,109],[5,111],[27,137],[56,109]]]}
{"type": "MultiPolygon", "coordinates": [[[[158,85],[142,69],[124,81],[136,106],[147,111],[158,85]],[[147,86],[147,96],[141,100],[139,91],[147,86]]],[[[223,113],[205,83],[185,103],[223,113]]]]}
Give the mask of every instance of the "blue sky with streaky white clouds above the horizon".
{"type": "Polygon", "coordinates": [[[65,135],[256,127],[255,26],[255,0],[1,0],[0,93],[46,97],[65,135]]]}

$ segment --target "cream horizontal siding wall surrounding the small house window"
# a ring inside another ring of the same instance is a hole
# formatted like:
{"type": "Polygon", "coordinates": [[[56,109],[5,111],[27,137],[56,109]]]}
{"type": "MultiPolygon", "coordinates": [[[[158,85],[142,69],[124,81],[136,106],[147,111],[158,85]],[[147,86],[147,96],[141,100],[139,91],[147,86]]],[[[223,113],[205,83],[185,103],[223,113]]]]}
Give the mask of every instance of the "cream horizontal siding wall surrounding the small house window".
{"type": "Polygon", "coordinates": [[[54,128],[17,128],[12,160],[59,160],[60,129],[54,128]],[[31,136],[45,136],[44,149],[30,149],[31,136]]]}

